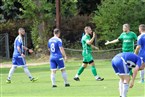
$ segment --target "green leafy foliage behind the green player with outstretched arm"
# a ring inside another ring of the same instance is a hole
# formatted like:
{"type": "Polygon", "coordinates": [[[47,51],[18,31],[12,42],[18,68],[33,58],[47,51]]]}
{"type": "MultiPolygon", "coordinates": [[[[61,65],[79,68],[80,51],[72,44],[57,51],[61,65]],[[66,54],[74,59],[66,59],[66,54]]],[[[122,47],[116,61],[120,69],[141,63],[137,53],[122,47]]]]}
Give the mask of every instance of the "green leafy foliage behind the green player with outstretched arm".
{"type": "Polygon", "coordinates": [[[137,33],[144,16],[145,3],[141,0],[103,0],[92,21],[96,24],[99,46],[104,46],[106,40],[116,39],[124,23],[129,23],[137,33]]]}

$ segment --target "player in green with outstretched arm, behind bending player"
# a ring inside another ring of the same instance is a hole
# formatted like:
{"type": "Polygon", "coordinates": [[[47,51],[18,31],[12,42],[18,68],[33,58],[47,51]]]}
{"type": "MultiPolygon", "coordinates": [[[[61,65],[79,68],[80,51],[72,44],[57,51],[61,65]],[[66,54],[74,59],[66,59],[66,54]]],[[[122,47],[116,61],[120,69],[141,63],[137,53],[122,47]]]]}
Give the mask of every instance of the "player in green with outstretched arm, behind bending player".
{"type": "Polygon", "coordinates": [[[134,52],[134,41],[137,40],[137,36],[134,32],[130,31],[129,24],[123,25],[122,34],[113,41],[107,41],[105,45],[122,42],[122,52],[134,52]]]}

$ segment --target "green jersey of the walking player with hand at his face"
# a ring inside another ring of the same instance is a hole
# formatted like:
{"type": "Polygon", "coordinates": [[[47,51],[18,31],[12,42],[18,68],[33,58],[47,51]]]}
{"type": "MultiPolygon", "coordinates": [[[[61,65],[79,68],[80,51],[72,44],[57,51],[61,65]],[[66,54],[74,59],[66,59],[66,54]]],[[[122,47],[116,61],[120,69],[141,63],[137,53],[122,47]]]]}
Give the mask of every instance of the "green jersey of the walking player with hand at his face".
{"type": "Polygon", "coordinates": [[[91,38],[90,38],[90,35],[84,35],[83,37],[82,37],[82,47],[83,47],[83,53],[85,53],[85,54],[88,54],[88,53],[91,53],[92,52],[92,47],[91,47],[91,45],[88,45],[86,42],[88,41],[88,40],[90,40],[91,38]]]}

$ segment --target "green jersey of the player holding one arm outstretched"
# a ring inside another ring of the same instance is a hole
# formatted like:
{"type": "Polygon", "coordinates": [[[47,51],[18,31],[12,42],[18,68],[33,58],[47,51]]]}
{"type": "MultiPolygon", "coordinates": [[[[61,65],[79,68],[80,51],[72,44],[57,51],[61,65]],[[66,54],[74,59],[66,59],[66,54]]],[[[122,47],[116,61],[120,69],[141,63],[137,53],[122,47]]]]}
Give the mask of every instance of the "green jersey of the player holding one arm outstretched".
{"type": "Polygon", "coordinates": [[[123,32],[118,39],[123,43],[123,52],[134,52],[134,41],[137,40],[137,36],[134,32],[123,32]]]}

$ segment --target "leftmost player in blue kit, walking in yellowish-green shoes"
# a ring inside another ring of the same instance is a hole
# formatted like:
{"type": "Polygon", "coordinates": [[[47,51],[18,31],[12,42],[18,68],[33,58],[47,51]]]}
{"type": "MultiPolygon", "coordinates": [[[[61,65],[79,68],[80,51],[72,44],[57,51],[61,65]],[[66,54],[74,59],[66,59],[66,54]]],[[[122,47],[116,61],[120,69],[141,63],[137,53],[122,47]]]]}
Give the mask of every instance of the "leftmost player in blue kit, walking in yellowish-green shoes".
{"type": "Polygon", "coordinates": [[[11,77],[18,66],[23,67],[24,72],[27,74],[30,81],[34,82],[38,79],[34,78],[31,75],[30,71],[28,70],[28,67],[27,67],[26,61],[25,61],[25,54],[24,54],[24,50],[28,51],[29,53],[33,53],[33,50],[28,49],[27,47],[25,47],[23,45],[23,37],[25,36],[24,28],[19,28],[18,34],[19,35],[16,37],[16,39],[14,41],[14,52],[13,52],[13,58],[12,58],[13,65],[9,71],[8,78],[7,78],[6,82],[11,83],[11,77]]]}

